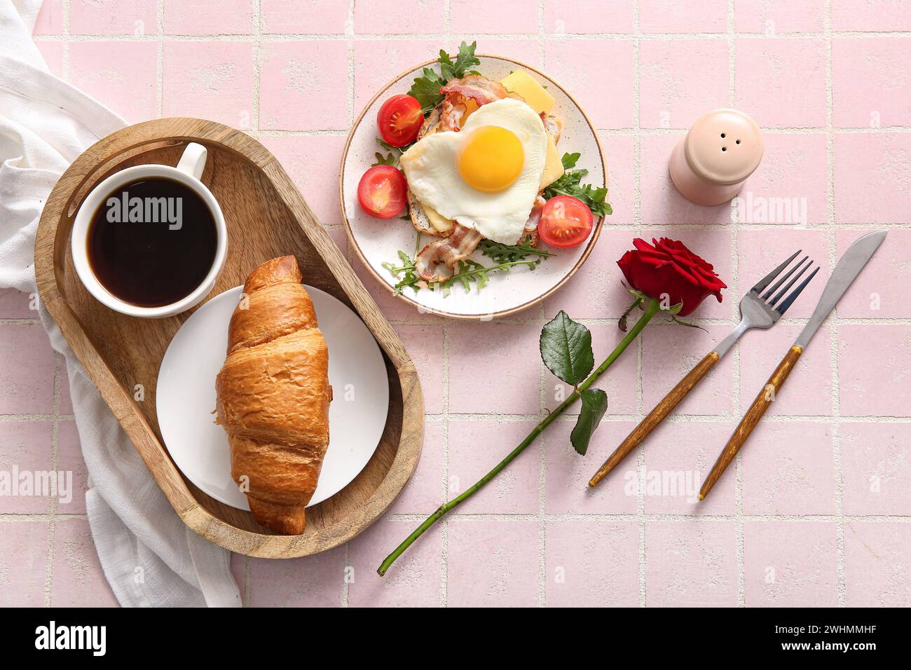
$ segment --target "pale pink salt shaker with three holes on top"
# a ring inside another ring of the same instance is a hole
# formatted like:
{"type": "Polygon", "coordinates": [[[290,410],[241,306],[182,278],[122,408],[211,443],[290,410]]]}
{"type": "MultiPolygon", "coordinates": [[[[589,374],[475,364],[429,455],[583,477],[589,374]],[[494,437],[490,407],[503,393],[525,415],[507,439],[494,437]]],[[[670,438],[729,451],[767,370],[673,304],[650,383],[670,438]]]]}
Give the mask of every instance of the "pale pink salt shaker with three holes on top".
{"type": "Polygon", "coordinates": [[[670,179],[699,205],[731,200],[763,160],[763,133],[737,109],[703,114],[670,153],[670,179]]]}

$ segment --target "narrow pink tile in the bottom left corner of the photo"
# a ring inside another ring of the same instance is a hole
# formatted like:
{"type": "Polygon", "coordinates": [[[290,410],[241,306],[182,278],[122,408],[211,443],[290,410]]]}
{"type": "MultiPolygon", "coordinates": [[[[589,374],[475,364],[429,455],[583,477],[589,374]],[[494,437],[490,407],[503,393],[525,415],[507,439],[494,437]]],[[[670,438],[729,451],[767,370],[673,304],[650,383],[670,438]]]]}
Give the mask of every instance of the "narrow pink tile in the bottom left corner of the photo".
{"type": "Polygon", "coordinates": [[[0,605],[43,607],[47,521],[0,521],[0,605]]]}

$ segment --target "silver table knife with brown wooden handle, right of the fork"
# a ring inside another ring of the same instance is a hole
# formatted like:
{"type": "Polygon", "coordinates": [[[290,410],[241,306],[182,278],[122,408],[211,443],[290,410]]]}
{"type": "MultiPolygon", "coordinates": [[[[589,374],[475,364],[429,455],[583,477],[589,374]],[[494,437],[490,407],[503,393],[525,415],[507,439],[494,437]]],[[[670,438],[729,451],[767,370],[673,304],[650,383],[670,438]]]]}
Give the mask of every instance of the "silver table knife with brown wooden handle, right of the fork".
{"type": "Polygon", "coordinates": [[[715,485],[715,482],[722,476],[724,470],[731,464],[731,461],[737,455],[737,452],[740,451],[747,438],[750,437],[752,429],[756,428],[759,419],[763,417],[765,410],[772,404],[775,396],[784,384],[784,380],[791,374],[791,370],[794,364],[797,363],[797,359],[804,353],[804,349],[810,344],[810,340],[813,339],[813,336],[816,335],[819,326],[823,325],[825,317],[829,315],[834,308],[835,303],[837,303],[842,295],[844,295],[844,292],[848,290],[848,286],[854,282],[855,277],[864,269],[867,261],[870,260],[870,257],[873,256],[884,239],[885,231],[869,232],[863,237],[855,240],[854,244],[848,247],[848,250],[844,252],[844,255],[839,259],[838,264],[835,265],[835,269],[832,272],[832,276],[829,277],[829,281],[825,284],[823,295],[819,298],[819,302],[816,304],[813,314],[810,315],[810,320],[804,325],[804,330],[800,332],[800,335],[797,335],[797,339],[794,340],[791,349],[784,356],[779,366],[775,368],[772,376],[770,376],[769,380],[765,383],[763,390],[761,390],[759,395],[756,396],[756,399],[752,401],[752,405],[746,411],[746,414],[743,415],[740,425],[734,430],[727,445],[718,457],[718,460],[715,461],[715,465],[712,466],[709,476],[705,479],[705,482],[702,484],[702,488],[699,491],[699,500],[705,499],[709,494],[711,487],[715,485]]]}

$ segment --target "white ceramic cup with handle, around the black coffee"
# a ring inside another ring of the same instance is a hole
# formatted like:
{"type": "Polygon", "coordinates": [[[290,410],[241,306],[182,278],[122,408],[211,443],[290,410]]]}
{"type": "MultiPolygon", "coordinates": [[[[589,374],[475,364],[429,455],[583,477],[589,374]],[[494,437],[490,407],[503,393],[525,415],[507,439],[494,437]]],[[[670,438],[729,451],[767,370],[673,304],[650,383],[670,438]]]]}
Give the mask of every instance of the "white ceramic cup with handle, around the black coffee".
{"type": "Polygon", "coordinates": [[[215,200],[215,196],[206,188],[205,184],[200,181],[202,170],[206,167],[207,154],[206,148],[201,144],[190,142],[187,148],[184,149],[176,168],[172,168],[169,165],[148,164],[120,170],[99,183],[82,201],[82,205],[76,214],[76,222],[73,223],[70,239],[73,265],[76,267],[79,280],[86,287],[88,293],[92,294],[99,303],[105,304],[121,314],[142,318],[160,318],[179,314],[199,304],[215,287],[215,282],[224,267],[228,252],[228,229],[225,226],[224,215],[221,213],[218,201],[215,200]],[[92,272],[91,265],[88,263],[87,238],[88,227],[92,222],[92,217],[108,195],[131,181],[153,178],[179,181],[195,192],[206,203],[212,214],[212,219],[215,221],[215,260],[212,261],[209,273],[206,274],[200,285],[185,298],[176,303],[164,304],[159,307],[142,307],[120,300],[117,296],[107,291],[104,285],[98,281],[95,273],[92,272]]]}

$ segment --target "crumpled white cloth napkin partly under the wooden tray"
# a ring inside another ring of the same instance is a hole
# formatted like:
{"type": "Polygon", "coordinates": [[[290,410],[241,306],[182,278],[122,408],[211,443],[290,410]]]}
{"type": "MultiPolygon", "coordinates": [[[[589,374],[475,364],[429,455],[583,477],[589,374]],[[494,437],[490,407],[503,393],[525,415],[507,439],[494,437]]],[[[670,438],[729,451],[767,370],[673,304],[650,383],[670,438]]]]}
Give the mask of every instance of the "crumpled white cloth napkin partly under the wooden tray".
{"type": "MultiPolygon", "coordinates": [[[[32,41],[41,0],[0,0],[0,288],[34,293],[35,233],[57,178],[88,146],[126,125],[50,75],[32,41]]],[[[67,359],[86,506],[107,581],[124,606],[240,606],[230,553],[190,531],[171,508],[56,324],[67,359]]]]}

